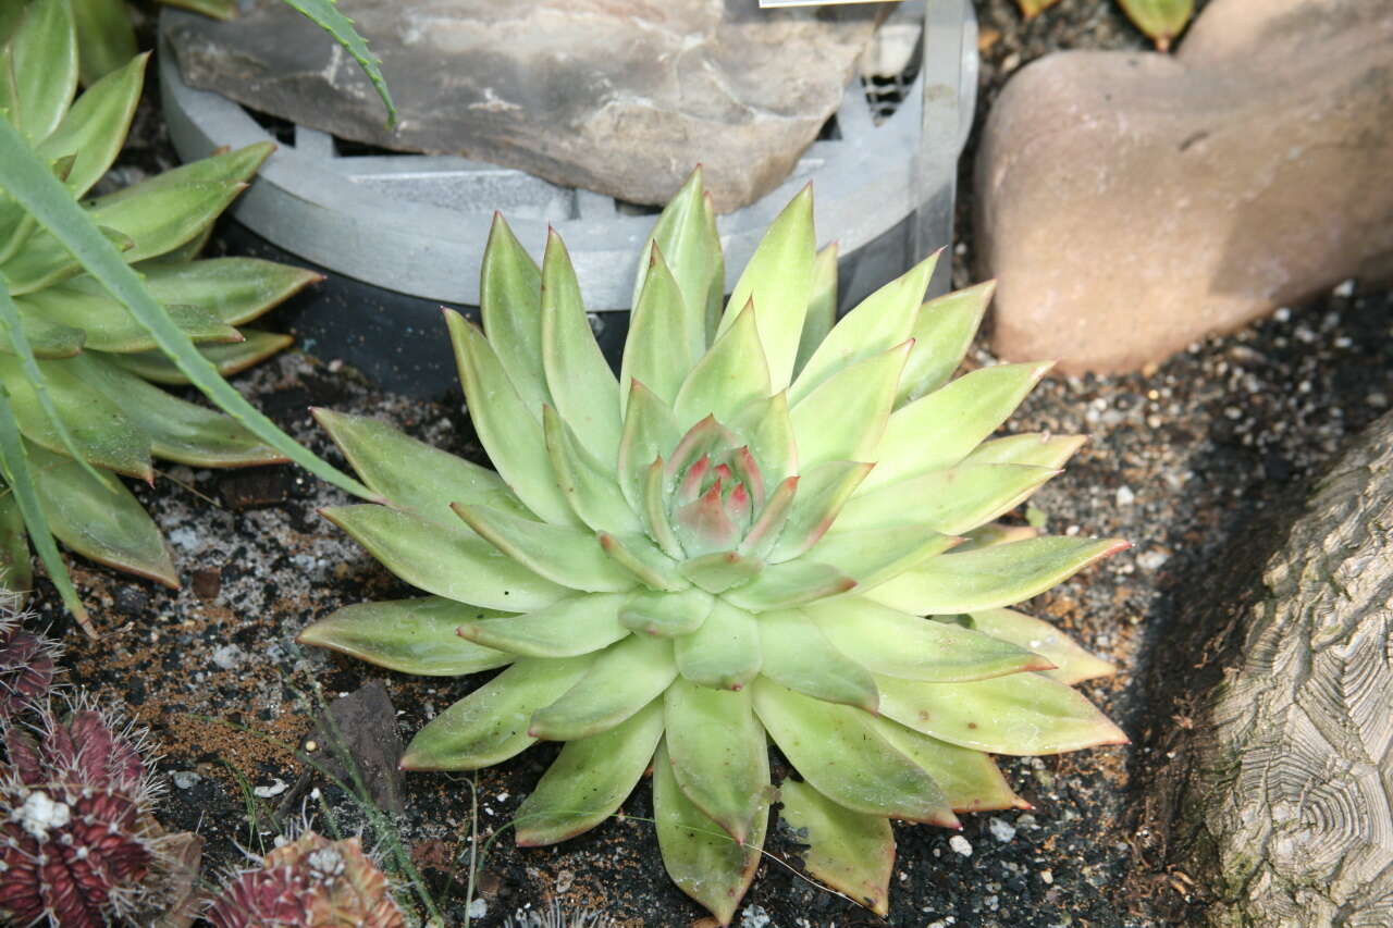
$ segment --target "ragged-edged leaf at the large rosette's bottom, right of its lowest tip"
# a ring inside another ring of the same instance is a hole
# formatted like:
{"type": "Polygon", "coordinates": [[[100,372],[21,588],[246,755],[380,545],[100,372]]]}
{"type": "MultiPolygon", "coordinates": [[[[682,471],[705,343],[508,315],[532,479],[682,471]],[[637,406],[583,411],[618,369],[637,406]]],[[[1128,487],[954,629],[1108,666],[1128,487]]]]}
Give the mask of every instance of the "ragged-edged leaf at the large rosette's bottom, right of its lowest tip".
{"type": "Polygon", "coordinates": [[[808,872],[878,915],[890,911],[894,832],[883,815],[853,812],[807,783],[779,787],[783,819],[808,835],[808,872]]]}

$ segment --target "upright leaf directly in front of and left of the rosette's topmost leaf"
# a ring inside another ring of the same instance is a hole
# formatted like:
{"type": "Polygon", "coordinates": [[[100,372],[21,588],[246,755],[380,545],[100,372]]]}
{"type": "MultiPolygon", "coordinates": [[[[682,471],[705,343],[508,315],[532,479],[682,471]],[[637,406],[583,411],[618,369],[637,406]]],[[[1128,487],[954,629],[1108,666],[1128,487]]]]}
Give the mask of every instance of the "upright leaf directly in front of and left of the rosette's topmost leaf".
{"type": "MultiPolygon", "coordinates": [[[[664,403],[676,400],[687,375],[706,353],[702,314],[702,307],[687,309],[681,286],[653,244],[644,288],[630,319],[618,382],[638,379],[664,403]]],[[[621,399],[627,407],[627,390],[621,390],[621,399]]]]}

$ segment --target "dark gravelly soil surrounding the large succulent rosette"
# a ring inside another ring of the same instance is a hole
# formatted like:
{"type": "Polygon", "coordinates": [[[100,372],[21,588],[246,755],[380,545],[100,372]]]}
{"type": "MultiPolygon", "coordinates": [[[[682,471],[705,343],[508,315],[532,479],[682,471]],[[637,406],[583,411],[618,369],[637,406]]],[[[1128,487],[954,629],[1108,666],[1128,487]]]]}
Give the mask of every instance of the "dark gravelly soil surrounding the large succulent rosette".
{"type": "MultiPolygon", "coordinates": [[[[1009,0],[981,0],[978,14],[982,109],[1010,71],[1048,50],[1144,42],[1099,0],[1064,0],[1031,24],[1009,0]]],[[[157,123],[146,125],[152,146],[132,156],[134,169],[162,160],[150,156],[157,123]]],[[[970,212],[964,185],[964,237],[970,212]]],[[[957,259],[965,283],[970,238],[957,259]]],[[[1160,842],[1166,812],[1137,784],[1155,768],[1152,745],[1188,722],[1176,698],[1202,656],[1174,642],[1195,640],[1197,617],[1213,614],[1256,570],[1282,525],[1270,514],[1298,504],[1332,456],[1393,399],[1393,295],[1358,286],[1340,294],[1197,344],[1155,372],[1048,380],[1021,407],[1014,431],[1092,439],[1032,500],[1049,528],[1133,542],[1027,609],[1117,663],[1116,677],[1084,688],[1134,743],[1009,761],[1009,778],[1035,810],[967,817],[965,846],[950,846],[944,830],[898,826],[890,924],[1139,927],[1199,918],[1202,875],[1169,867],[1160,842]]],[[[436,337],[446,337],[443,326],[436,337]]],[[[971,359],[985,361],[982,348],[971,359]]],[[[311,405],[372,414],[481,460],[458,400],[436,405],[382,393],[332,358],[287,354],[241,378],[240,387],[340,465],[311,405]]],[[[476,830],[481,847],[501,836],[476,867],[476,925],[499,925],[556,899],[623,925],[709,924],[663,872],[645,821],[646,783],[621,818],[582,837],[534,850],[510,843],[508,819],[552,747],[478,775],[407,776],[405,812],[390,839],[322,778],[297,790],[308,768],[295,748],[325,702],[383,680],[410,737],[485,677],[411,679],[295,644],[308,621],[340,605],[412,595],[316,514],[347,502],[337,490],[291,468],[171,467],[139,493],[170,539],[184,588],[167,591],[74,559],[79,591],[103,631],[98,641],[70,627],[46,582],[35,605],[64,633],[70,680],[128,705],[153,729],[164,750],[159,766],[173,782],[160,819],[206,837],[205,872],[269,847],[284,819],[304,814],[325,832],[362,832],[384,856],[400,840],[447,922],[458,925],[476,830]],[[287,797],[290,814],[277,821],[287,797]]],[[[380,725],[382,715],[375,718],[380,725]]],[[[736,924],[883,924],[798,875],[797,844],[786,832],[772,828],[768,850],[736,924]]]]}

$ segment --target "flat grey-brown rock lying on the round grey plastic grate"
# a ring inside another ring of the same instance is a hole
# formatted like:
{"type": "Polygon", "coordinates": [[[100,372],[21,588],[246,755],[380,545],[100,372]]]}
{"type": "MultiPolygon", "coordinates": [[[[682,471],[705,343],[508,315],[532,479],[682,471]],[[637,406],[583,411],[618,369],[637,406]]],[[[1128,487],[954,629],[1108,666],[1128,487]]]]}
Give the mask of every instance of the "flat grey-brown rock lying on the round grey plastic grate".
{"type": "Polygon", "coordinates": [[[170,14],[184,79],[340,138],[454,153],[663,203],[696,163],[716,208],[773,190],[841,103],[879,4],[343,0],[400,107],[280,0],[170,14]]]}

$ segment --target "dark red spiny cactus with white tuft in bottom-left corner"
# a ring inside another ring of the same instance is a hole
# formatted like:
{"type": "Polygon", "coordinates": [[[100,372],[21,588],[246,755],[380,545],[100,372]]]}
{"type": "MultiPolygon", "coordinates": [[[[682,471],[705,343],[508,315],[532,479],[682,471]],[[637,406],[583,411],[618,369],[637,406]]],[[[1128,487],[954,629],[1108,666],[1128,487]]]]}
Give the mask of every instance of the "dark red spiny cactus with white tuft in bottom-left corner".
{"type": "Polygon", "coordinates": [[[79,704],[38,738],[6,732],[0,768],[4,924],[100,928],[131,915],[162,869],[146,733],[79,704]]]}

